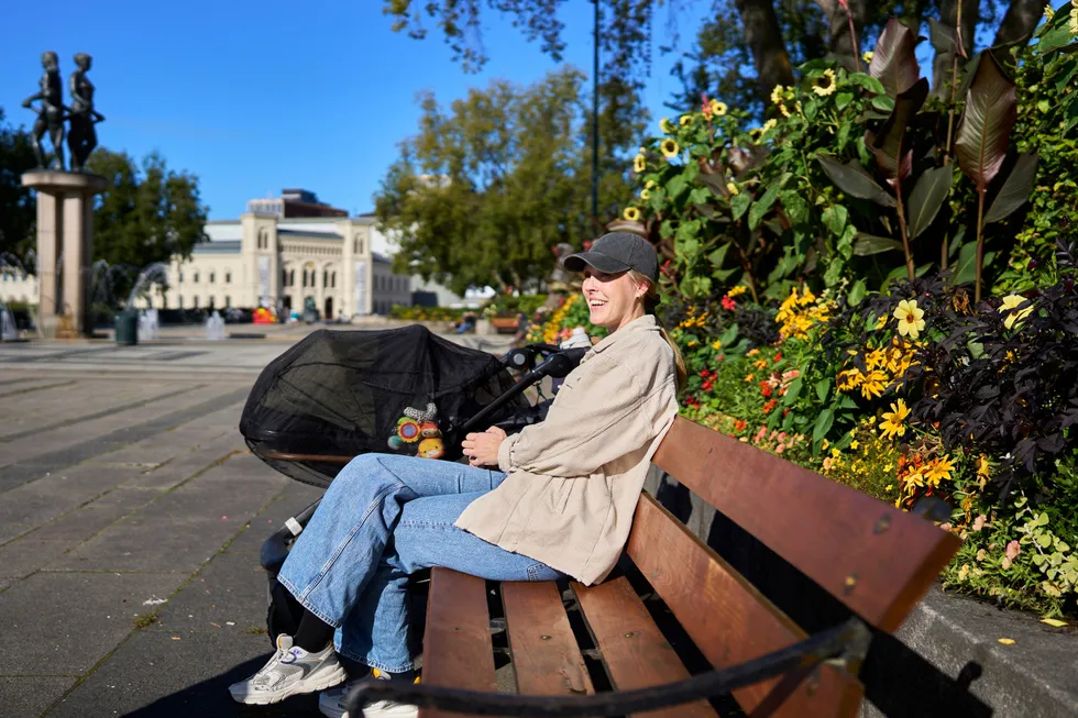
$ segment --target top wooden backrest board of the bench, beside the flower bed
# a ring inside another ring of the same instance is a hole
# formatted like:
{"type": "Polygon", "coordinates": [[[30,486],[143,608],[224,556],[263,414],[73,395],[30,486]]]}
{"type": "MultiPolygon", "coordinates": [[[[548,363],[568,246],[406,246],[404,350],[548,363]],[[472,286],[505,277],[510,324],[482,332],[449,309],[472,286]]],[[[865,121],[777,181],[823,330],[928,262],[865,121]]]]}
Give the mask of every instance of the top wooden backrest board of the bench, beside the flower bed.
{"type": "Polygon", "coordinates": [[[958,550],[930,521],[681,417],[653,462],[888,632],[958,550]]]}

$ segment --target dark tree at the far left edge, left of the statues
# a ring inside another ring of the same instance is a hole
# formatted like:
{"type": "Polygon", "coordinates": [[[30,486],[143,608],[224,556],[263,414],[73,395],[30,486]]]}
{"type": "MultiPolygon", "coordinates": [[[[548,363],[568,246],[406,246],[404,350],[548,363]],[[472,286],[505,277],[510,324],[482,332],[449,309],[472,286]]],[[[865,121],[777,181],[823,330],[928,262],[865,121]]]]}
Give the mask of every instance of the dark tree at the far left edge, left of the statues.
{"type": "Polygon", "coordinates": [[[33,246],[34,200],[22,174],[37,165],[30,134],[4,124],[0,108],[0,253],[24,257],[33,246]]]}

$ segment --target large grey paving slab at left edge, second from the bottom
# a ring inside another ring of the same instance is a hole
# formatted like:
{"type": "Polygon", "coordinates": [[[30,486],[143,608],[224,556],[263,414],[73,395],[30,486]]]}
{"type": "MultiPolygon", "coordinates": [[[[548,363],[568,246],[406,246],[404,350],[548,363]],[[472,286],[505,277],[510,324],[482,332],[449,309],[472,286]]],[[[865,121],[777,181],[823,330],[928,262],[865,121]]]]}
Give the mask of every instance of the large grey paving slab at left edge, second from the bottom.
{"type": "Polygon", "coordinates": [[[169,596],[179,574],[40,572],[0,594],[3,643],[19,647],[19,660],[3,662],[2,675],[87,673],[133,630],[143,601],[169,596]]]}

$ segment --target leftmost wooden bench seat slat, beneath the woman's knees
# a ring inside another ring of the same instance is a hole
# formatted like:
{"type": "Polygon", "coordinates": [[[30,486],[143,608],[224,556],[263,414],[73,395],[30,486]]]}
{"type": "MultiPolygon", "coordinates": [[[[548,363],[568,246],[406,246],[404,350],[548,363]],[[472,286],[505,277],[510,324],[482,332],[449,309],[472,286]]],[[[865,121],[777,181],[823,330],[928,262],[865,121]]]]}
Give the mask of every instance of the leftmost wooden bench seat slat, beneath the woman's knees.
{"type": "MultiPolygon", "coordinates": [[[[497,693],[486,582],[449,568],[431,568],[424,638],[422,681],[428,685],[497,693]]],[[[424,708],[419,718],[462,714],[424,708]]]]}

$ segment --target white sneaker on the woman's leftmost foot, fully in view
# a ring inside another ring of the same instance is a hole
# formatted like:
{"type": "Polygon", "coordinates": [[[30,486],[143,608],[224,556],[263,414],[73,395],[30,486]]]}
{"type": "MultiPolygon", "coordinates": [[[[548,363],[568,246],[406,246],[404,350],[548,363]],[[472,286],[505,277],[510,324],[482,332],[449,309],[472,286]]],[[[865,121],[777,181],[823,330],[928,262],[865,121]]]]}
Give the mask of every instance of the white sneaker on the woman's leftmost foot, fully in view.
{"type": "Polygon", "coordinates": [[[277,651],[246,681],[229,686],[238,703],[266,705],[299,693],[314,693],[336,686],[348,676],[337,660],[333,644],[318,653],[292,644],[292,637],[277,637],[277,651]]]}

